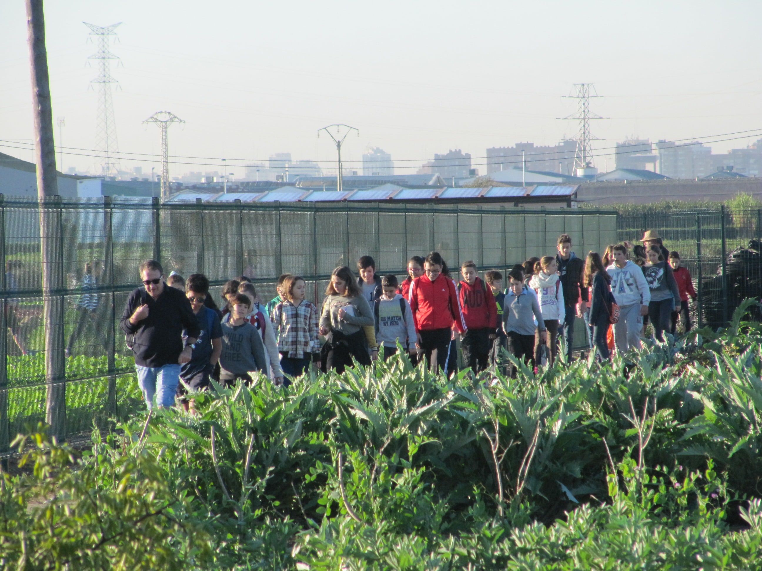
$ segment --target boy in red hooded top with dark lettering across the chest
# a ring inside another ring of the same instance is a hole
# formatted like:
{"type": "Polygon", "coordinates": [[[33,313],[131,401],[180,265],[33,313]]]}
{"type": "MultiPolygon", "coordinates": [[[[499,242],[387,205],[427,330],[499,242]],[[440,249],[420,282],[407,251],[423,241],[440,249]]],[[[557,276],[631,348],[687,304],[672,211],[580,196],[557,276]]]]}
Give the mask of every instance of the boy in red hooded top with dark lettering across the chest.
{"type": "Polygon", "coordinates": [[[464,281],[458,284],[458,298],[468,327],[468,332],[460,340],[460,349],[466,366],[478,373],[487,368],[489,351],[496,337],[498,306],[495,296],[476,275],[475,263],[471,260],[464,262],[460,273],[464,281]]]}

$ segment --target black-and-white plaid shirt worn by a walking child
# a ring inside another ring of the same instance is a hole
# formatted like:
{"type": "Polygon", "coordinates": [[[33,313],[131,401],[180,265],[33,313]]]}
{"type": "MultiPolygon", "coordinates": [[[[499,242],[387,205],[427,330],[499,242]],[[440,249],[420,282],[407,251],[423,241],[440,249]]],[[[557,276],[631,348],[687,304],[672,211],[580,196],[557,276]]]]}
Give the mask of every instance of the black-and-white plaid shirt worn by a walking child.
{"type": "Polygon", "coordinates": [[[278,351],[293,359],[303,359],[320,351],[318,308],[306,299],[298,307],[291,301],[275,305],[270,315],[278,339],[278,351]]]}

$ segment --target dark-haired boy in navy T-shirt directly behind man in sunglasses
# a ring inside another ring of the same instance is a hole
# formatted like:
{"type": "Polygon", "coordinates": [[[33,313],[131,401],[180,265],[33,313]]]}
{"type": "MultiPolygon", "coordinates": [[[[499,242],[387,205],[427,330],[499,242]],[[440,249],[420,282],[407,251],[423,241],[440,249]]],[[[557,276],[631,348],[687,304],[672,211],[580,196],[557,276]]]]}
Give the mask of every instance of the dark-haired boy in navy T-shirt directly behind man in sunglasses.
{"type": "MultiPolygon", "coordinates": [[[[198,319],[201,332],[196,343],[191,345],[191,360],[180,367],[180,379],[183,382],[178,384],[177,395],[185,410],[189,409],[189,404],[184,398],[187,394],[184,384],[187,384],[192,391],[207,390],[209,379],[214,372],[214,365],[219,361],[219,354],[223,351],[223,329],[219,325],[216,311],[204,305],[207,295],[209,295],[209,280],[203,274],[194,274],[187,279],[185,297],[191,302],[191,308],[198,319]]],[[[186,338],[187,331],[184,331],[183,339],[186,338]]]]}

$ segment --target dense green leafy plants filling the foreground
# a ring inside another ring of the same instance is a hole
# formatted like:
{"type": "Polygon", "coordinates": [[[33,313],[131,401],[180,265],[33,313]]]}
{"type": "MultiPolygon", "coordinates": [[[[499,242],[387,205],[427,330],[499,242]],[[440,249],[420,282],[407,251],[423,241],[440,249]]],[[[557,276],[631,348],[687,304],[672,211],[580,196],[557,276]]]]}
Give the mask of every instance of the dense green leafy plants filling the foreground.
{"type": "Polygon", "coordinates": [[[755,569],[762,326],[600,368],[446,379],[395,356],[198,394],[3,475],[0,566],[755,569]]]}

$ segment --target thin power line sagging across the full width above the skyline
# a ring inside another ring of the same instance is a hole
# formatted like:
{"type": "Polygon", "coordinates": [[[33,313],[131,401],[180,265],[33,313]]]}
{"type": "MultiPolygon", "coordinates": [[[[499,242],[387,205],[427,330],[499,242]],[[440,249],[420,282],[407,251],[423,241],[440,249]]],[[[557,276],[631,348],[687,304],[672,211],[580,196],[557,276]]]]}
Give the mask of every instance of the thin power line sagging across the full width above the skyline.
{"type": "MultiPolygon", "coordinates": [[[[735,141],[737,139],[747,139],[748,137],[754,136],[754,135],[744,135],[744,136],[735,137],[735,138],[732,138],[732,139],[722,139],[721,141],[696,141],[696,139],[714,139],[715,137],[725,137],[725,136],[729,136],[729,135],[741,135],[741,134],[744,134],[744,133],[756,133],[757,135],[762,135],[762,127],[757,128],[757,129],[745,129],[744,131],[732,131],[732,132],[717,133],[716,135],[704,135],[704,136],[684,137],[682,139],[671,139],[671,140],[668,140],[668,141],[660,141],[660,142],[676,143],[676,142],[680,142],[680,141],[692,141],[690,143],[690,145],[696,145],[696,144],[703,145],[703,144],[710,144],[712,142],[724,142],[724,141],[735,141]]],[[[30,145],[30,150],[31,150],[31,148],[34,148],[34,145],[32,143],[23,142],[23,141],[29,141],[29,140],[30,139],[0,139],[0,142],[19,142],[20,144],[23,144],[23,145],[30,145]]],[[[689,145],[689,143],[684,143],[683,145],[676,145],[676,146],[687,146],[687,145],[689,145]]],[[[0,146],[5,146],[5,145],[0,145],[0,146]]],[[[18,148],[23,148],[23,147],[18,147],[18,148]]],[[[98,152],[98,149],[94,149],[94,148],[83,148],[83,147],[61,147],[61,148],[66,148],[66,149],[69,149],[71,151],[98,152]]],[[[616,149],[616,148],[619,148],[619,147],[617,147],[616,145],[610,146],[610,147],[599,147],[599,148],[596,149],[596,151],[606,151],[606,150],[609,150],[609,149],[616,149]]],[[[641,151],[642,151],[642,149],[641,149],[641,151]]],[[[613,153],[607,153],[605,155],[595,155],[595,156],[622,155],[622,154],[629,153],[629,152],[631,152],[631,151],[627,151],[627,152],[625,152],[625,151],[617,151],[617,152],[613,152],[613,153]]],[[[546,156],[546,155],[570,155],[571,153],[572,153],[572,151],[547,151],[547,152],[532,153],[531,156],[533,156],[533,157],[540,157],[540,156],[546,156]]],[[[75,153],[68,153],[68,152],[64,153],[64,154],[65,155],[76,155],[75,153]]],[[[127,157],[127,160],[130,160],[130,161],[141,161],[141,160],[142,161],[149,161],[150,158],[153,158],[156,161],[158,161],[158,160],[160,160],[160,157],[161,157],[161,155],[158,155],[156,153],[140,153],[140,152],[121,151],[119,154],[120,154],[120,156],[123,156],[123,155],[135,155],[136,157],[147,157],[145,159],[142,159],[142,158],[129,158],[129,157],[127,157]]],[[[91,156],[94,156],[94,155],[78,155],[78,156],[91,157],[91,156]]],[[[223,160],[220,157],[201,157],[201,156],[196,156],[196,155],[175,155],[175,157],[176,158],[196,158],[196,159],[205,160],[205,161],[222,161],[223,160]]],[[[515,155],[499,155],[499,157],[487,157],[487,156],[484,156],[484,157],[472,157],[471,159],[472,160],[474,160],[474,159],[495,159],[495,158],[501,158],[502,159],[502,158],[514,158],[514,157],[519,157],[520,158],[521,154],[517,153],[515,155]]],[[[559,157],[559,158],[571,158],[571,157],[562,156],[562,157],[559,157]]],[[[226,160],[228,160],[228,161],[247,161],[247,162],[267,162],[270,159],[269,158],[229,158],[229,159],[226,159],[226,160]]],[[[546,161],[546,160],[550,160],[550,159],[543,159],[543,160],[546,161]]],[[[399,159],[394,159],[395,163],[401,163],[401,162],[423,163],[423,162],[427,162],[427,161],[431,161],[431,157],[427,157],[427,158],[399,158],[399,159]]],[[[300,159],[299,161],[294,161],[294,162],[295,163],[299,163],[299,162],[314,162],[314,163],[317,163],[317,164],[320,164],[320,163],[333,164],[334,161],[331,161],[331,160],[317,161],[317,160],[312,160],[312,159],[300,159]]],[[[351,160],[351,161],[344,161],[344,160],[342,160],[341,162],[342,162],[342,164],[344,164],[344,163],[362,163],[363,161],[362,160],[351,160]]],[[[520,161],[518,161],[518,162],[520,162],[520,161]]],[[[501,164],[501,163],[511,164],[511,163],[505,163],[502,160],[498,161],[497,163],[487,162],[487,163],[479,163],[479,164],[501,164]]],[[[179,163],[179,162],[176,162],[175,164],[196,164],[196,163],[179,163]]],[[[207,165],[207,163],[197,163],[197,164],[199,164],[199,166],[205,166],[205,165],[207,165]]],[[[219,166],[219,164],[216,164],[216,163],[214,163],[214,164],[208,164],[208,166],[219,166]]],[[[249,166],[249,165],[244,164],[244,165],[232,165],[232,166],[244,166],[244,167],[246,167],[246,166],[249,166]]],[[[300,168],[302,168],[302,167],[300,167],[300,168]]],[[[303,168],[315,168],[315,167],[303,167],[303,168]]],[[[405,167],[403,167],[403,168],[405,168],[405,167]]]]}

